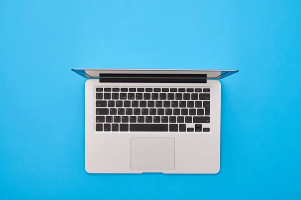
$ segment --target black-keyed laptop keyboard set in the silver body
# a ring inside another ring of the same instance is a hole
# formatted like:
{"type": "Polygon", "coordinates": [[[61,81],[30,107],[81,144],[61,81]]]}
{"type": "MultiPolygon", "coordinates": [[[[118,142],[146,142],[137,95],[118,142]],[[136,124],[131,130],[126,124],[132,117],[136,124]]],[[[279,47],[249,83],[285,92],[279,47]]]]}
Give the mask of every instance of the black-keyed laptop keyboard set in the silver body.
{"type": "Polygon", "coordinates": [[[210,88],[95,87],[95,131],[210,132],[210,88]]]}

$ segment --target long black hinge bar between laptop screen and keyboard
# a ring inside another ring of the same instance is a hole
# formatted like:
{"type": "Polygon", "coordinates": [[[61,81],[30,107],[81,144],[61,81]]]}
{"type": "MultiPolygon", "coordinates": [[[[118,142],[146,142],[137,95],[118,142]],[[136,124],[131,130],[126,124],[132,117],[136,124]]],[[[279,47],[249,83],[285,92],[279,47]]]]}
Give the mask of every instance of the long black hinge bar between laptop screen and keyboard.
{"type": "Polygon", "coordinates": [[[207,83],[207,74],[99,73],[99,82],[207,83]]]}

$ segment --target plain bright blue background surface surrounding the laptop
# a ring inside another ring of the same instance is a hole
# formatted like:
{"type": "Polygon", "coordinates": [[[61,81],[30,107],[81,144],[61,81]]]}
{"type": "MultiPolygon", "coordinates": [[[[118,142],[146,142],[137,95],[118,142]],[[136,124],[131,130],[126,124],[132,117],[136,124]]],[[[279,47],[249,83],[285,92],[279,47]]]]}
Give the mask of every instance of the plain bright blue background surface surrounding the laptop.
{"type": "Polygon", "coordinates": [[[1,0],[0,199],[300,199],[301,1],[1,0]],[[73,67],[239,69],[215,175],[88,174],[73,67]]]}

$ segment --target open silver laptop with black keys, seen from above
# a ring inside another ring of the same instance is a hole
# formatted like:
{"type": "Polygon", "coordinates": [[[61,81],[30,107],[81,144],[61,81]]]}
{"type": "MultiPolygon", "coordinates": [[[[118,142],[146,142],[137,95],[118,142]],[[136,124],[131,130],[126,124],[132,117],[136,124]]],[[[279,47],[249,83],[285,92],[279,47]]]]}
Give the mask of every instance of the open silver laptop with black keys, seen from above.
{"type": "Polygon", "coordinates": [[[76,68],[88,173],[218,173],[221,84],[238,70],[76,68]]]}

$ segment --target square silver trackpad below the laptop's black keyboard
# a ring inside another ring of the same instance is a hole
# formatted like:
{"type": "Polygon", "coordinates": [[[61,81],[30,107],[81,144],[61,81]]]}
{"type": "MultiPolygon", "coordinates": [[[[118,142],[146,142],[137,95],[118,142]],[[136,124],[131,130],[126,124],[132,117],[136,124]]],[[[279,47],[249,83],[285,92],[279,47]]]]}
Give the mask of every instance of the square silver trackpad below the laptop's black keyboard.
{"type": "Polygon", "coordinates": [[[131,169],[174,169],[175,138],[131,138],[131,169]]]}

